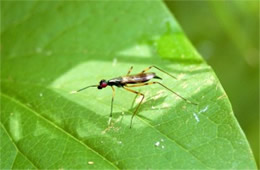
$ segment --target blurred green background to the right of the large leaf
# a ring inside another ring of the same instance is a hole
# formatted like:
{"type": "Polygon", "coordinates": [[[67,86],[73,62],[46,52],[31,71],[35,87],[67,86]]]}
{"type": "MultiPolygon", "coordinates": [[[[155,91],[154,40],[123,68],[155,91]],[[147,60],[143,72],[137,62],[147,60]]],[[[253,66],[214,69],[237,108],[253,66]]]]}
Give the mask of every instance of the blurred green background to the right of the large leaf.
{"type": "Polygon", "coordinates": [[[166,4],[218,75],[259,165],[259,1],[166,4]]]}

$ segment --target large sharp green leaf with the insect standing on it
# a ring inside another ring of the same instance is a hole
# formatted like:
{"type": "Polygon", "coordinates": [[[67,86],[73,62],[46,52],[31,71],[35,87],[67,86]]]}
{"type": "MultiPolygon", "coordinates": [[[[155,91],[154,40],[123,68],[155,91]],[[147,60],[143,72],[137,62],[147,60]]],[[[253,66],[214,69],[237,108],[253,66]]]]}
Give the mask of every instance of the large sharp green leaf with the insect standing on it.
{"type": "Polygon", "coordinates": [[[212,69],[161,1],[3,1],[1,169],[256,169],[212,69]],[[101,79],[152,70],[162,83],[88,89],[101,79]]]}

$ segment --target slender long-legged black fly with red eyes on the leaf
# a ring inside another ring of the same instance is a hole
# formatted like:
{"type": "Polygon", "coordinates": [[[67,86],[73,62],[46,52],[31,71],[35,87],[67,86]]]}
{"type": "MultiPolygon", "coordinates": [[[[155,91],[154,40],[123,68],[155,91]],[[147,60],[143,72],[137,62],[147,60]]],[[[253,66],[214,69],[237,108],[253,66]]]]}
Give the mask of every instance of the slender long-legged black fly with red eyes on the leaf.
{"type": "Polygon", "coordinates": [[[90,87],[97,87],[99,90],[106,88],[107,86],[110,86],[112,88],[112,100],[111,100],[111,111],[110,111],[110,118],[112,118],[112,113],[113,113],[113,103],[114,103],[114,97],[115,97],[115,89],[114,86],[116,87],[121,87],[131,93],[135,93],[139,96],[142,96],[140,102],[138,103],[132,117],[131,117],[131,122],[130,122],[130,128],[132,127],[132,122],[133,122],[133,118],[136,115],[140,105],[142,104],[143,100],[144,100],[144,94],[137,92],[135,90],[132,90],[132,87],[141,87],[141,86],[147,86],[147,85],[152,85],[152,84],[159,84],[160,86],[164,87],[165,89],[167,89],[168,91],[172,92],[173,94],[175,94],[176,96],[180,97],[182,100],[184,100],[187,103],[193,104],[193,105],[197,105],[197,103],[191,102],[190,100],[182,97],[181,95],[179,95],[178,93],[176,93],[175,91],[171,90],[170,88],[166,87],[165,85],[163,85],[160,82],[157,81],[151,81],[152,79],[159,79],[162,80],[162,78],[158,77],[156,75],[156,73],[154,72],[147,72],[148,70],[150,70],[151,68],[155,68],[165,74],[167,74],[168,76],[177,79],[175,76],[167,73],[166,71],[163,71],[162,69],[156,67],[156,66],[150,66],[146,69],[144,69],[142,72],[138,73],[138,74],[130,74],[133,70],[133,66],[129,69],[129,71],[127,72],[127,74],[125,76],[120,76],[120,77],[116,77],[116,78],[112,78],[110,80],[101,80],[99,82],[98,85],[90,85],[87,87],[84,87],[82,89],[79,89],[77,91],[72,91],[71,93],[78,93],[80,91],[83,91],[87,88],[90,87]]]}

